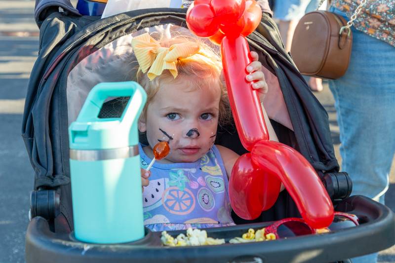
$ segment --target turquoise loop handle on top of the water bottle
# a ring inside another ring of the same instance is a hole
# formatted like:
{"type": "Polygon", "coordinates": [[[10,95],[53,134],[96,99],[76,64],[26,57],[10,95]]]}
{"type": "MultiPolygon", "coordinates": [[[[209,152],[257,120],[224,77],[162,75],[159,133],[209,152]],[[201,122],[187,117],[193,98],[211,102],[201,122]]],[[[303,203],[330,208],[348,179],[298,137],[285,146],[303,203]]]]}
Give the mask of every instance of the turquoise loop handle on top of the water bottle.
{"type": "MultiPolygon", "coordinates": [[[[129,96],[130,99],[125,110],[117,120],[121,124],[131,125],[135,117],[140,115],[147,101],[146,92],[134,81],[102,82],[94,86],[79,112],[77,122],[103,121],[98,115],[107,98],[129,96]]],[[[111,118],[110,120],[114,119],[111,118]]]]}

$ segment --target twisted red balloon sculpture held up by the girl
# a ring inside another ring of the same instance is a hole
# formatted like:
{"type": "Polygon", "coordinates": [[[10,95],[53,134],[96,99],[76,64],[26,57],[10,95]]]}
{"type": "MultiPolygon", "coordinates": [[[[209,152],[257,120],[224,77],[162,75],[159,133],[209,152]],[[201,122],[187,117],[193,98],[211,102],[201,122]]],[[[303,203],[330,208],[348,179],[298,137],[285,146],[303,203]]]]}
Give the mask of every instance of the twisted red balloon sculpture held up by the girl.
{"type": "Polygon", "coordinates": [[[189,29],[221,44],[229,101],[240,141],[251,151],[241,155],[229,183],[238,216],[255,219],[276,202],[281,181],[303,219],[314,228],[330,225],[331,200],[311,164],[294,149],[269,141],[257,91],[245,80],[251,63],[244,37],[259,25],[262,10],[255,0],[195,0],[187,12],[189,29]]]}

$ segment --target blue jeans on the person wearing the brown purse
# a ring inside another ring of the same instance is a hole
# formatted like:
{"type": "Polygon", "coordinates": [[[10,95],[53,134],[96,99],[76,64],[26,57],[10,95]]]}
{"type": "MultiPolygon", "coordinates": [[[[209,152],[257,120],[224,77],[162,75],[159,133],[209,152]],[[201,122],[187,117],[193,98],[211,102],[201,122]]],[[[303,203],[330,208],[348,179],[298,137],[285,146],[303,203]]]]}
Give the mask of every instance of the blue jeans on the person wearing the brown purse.
{"type": "MultiPolygon", "coordinates": [[[[344,15],[333,7],[331,11],[344,15]]],[[[395,47],[352,30],[349,68],[329,81],[340,127],[342,169],[353,180],[353,195],[384,204],[395,152],[395,47]]],[[[377,253],[353,259],[376,261],[377,253]]]]}

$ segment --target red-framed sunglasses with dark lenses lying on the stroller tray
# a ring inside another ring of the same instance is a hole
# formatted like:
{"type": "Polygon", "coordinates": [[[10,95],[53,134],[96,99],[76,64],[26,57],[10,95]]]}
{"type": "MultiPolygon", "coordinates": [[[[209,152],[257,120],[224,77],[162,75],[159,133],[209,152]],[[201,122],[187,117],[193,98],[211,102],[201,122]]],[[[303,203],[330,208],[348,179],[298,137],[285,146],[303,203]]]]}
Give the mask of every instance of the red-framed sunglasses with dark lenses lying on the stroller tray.
{"type": "MultiPolygon", "coordinates": [[[[357,225],[359,223],[356,215],[335,212],[333,222],[328,226],[328,229],[333,231],[357,225]]],[[[301,218],[285,218],[265,228],[265,233],[273,233],[276,238],[315,234],[316,232],[315,228],[312,228],[301,218]]]]}

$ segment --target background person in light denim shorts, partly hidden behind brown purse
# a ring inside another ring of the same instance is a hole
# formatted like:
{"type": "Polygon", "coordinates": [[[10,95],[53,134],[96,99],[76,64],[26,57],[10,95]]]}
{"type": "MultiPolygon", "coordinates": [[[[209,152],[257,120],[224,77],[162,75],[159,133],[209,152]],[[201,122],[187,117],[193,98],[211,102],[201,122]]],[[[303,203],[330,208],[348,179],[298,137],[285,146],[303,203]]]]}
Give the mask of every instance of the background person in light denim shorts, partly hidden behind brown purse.
{"type": "MultiPolygon", "coordinates": [[[[319,0],[275,0],[274,18],[278,20],[278,29],[285,50],[291,50],[291,43],[295,27],[306,13],[316,10],[319,0]]],[[[323,6],[326,6],[324,4],[323,6]]],[[[310,77],[309,87],[313,91],[322,91],[322,79],[310,77]]]]}

